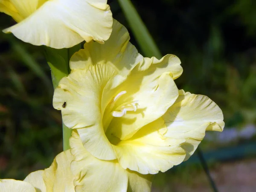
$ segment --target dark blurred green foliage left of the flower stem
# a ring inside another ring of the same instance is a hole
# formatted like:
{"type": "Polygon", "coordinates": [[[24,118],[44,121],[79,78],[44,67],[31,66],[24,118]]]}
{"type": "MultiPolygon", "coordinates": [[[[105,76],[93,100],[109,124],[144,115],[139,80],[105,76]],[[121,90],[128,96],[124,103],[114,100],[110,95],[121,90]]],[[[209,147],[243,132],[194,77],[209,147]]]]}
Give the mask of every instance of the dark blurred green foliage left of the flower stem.
{"type": "Polygon", "coordinates": [[[62,150],[61,115],[41,47],[3,33],[0,46],[0,175],[22,179],[62,150]]]}

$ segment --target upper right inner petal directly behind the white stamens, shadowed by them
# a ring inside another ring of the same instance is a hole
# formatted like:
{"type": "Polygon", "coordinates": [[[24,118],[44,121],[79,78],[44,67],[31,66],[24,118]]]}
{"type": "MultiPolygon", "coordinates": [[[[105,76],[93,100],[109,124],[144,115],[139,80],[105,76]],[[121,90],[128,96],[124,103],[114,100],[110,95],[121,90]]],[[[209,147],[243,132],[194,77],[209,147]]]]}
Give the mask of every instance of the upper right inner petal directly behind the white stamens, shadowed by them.
{"type": "Polygon", "coordinates": [[[118,100],[116,106],[122,105],[122,102],[137,101],[137,111],[113,118],[107,130],[108,134],[121,140],[128,139],[144,125],[166,113],[178,97],[173,78],[181,73],[180,60],[175,55],[166,55],[161,60],[154,57],[144,58],[116,90],[116,93],[127,92],[125,99],[118,100]]]}

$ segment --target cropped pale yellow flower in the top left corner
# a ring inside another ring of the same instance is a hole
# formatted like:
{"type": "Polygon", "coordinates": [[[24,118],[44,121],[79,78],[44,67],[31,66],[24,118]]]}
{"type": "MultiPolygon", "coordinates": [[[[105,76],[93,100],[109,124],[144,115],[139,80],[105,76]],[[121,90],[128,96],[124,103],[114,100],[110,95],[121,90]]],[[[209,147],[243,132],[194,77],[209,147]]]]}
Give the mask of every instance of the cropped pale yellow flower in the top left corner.
{"type": "Polygon", "coordinates": [[[0,12],[17,21],[3,32],[56,49],[84,40],[104,43],[112,31],[107,0],[0,0],[0,12]]]}

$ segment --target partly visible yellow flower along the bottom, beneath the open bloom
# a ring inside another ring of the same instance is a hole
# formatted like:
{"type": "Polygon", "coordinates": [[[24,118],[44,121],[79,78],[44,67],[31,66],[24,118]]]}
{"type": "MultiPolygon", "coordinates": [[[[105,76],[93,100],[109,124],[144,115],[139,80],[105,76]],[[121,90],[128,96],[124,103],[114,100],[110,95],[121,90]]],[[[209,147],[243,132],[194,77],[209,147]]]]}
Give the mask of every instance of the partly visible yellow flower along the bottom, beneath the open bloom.
{"type": "Polygon", "coordinates": [[[83,147],[77,132],[72,144],[78,146],[58,154],[52,165],[30,173],[23,181],[0,179],[1,192],[141,192],[151,188],[151,175],[125,171],[115,161],[93,157],[83,147]],[[82,154],[82,158],[81,157],[82,154]]]}

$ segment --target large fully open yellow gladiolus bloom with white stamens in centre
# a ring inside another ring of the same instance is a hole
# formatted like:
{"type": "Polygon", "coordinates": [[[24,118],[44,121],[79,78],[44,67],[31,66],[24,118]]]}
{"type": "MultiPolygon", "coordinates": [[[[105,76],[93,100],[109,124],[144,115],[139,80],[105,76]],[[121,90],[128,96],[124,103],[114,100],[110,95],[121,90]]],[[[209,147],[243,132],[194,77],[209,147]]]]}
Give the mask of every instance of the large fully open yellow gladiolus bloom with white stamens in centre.
{"type": "Polygon", "coordinates": [[[177,89],[179,58],[143,58],[117,21],[108,41],[85,44],[70,68],[55,89],[53,106],[99,160],[140,174],[165,172],[195,151],[206,130],[224,127],[214,102],[177,89]]]}

